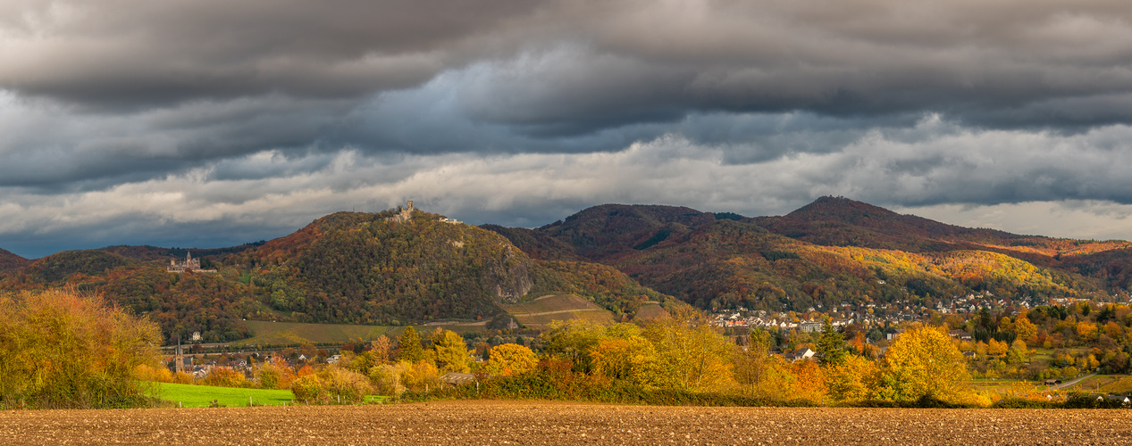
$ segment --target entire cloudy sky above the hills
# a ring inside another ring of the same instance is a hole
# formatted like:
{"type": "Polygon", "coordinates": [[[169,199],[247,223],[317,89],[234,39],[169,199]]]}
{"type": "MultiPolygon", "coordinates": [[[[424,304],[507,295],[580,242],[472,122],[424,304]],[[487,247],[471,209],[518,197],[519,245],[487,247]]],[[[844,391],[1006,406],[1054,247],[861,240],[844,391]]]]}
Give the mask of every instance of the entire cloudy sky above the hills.
{"type": "Polygon", "coordinates": [[[0,248],[847,196],[1132,239],[1122,0],[6,0],[0,248]]]}

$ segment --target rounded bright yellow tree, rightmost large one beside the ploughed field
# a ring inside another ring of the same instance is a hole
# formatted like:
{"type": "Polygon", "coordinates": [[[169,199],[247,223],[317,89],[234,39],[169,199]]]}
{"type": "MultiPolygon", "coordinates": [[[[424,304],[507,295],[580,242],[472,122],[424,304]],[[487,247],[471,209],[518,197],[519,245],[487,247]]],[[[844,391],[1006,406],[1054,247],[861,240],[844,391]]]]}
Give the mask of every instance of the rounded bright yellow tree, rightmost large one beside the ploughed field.
{"type": "Polygon", "coordinates": [[[968,397],[970,374],[963,353],[942,329],[909,329],[884,357],[877,396],[892,401],[923,397],[960,402],[968,397]]]}

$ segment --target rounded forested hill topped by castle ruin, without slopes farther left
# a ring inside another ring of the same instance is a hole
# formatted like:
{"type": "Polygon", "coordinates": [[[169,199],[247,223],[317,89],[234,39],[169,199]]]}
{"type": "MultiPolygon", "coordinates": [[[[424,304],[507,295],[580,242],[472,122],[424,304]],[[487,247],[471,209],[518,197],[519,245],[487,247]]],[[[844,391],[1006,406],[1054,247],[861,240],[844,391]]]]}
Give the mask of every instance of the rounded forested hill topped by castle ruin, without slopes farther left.
{"type": "Polygon", "coordinates": [[[414,211],[338,212],[230,257],[261,300],[295,317],[361,324],[488,318],[540,292],[576,292],[632,313],[662,298],[602,265],[532,260],[507,238],[414,211]]]}

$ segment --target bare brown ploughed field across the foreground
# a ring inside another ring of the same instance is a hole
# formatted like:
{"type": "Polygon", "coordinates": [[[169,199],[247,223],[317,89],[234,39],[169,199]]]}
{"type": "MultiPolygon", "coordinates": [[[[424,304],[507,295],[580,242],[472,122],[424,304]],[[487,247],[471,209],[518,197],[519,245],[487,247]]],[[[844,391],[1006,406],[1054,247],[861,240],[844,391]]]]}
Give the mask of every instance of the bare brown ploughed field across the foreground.
{"type": "Polygon", "coordinates": [[[1132,410],[658,408],[457,401],[0,412],[0,444],[1130,444],[1132,410]]]}

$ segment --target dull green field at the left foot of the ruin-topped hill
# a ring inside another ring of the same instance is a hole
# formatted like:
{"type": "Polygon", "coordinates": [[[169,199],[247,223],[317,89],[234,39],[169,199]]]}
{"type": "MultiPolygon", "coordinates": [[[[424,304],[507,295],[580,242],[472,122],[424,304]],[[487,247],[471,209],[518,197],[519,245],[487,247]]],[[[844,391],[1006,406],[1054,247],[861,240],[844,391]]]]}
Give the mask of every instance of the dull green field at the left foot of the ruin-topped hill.
{"type": "Polygon", "coordinates": [[[305,324],[299,322],[248,321],[252,336],[232,342],[233,346],[282,346],[315,342],[346,342],[351,339],[371,340],[389,333],[394,327],[383,325],[305,324]]]}

